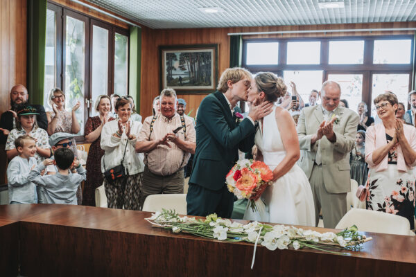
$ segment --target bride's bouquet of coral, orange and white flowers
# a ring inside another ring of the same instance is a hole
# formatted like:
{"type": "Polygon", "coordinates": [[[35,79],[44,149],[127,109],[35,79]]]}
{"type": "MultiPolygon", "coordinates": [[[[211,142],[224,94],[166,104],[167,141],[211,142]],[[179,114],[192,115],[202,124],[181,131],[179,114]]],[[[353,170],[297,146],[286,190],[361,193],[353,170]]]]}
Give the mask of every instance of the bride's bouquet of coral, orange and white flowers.
{"type": "Polygon", "coordinates": [[[272,184],[273,172],[262,161],[240,160],[229,170],[225,183],[238,199],[249,199],[252,211],[257,211],[256,201],[272,184]]]}

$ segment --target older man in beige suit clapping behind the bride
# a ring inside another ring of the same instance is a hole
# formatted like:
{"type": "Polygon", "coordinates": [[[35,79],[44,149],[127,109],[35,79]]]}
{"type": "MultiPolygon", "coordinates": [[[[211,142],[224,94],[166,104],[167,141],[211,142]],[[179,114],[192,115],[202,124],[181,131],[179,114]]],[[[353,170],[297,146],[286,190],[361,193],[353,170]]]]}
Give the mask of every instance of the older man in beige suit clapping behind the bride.
{"type": "Polygon", "coordinates": [[[302,109],[297,123],[300,167],[311,184],[318,225],[322,208],[324,226],[334,228],[347,213],[349,152],[354,147],[358,114],[338,107],[341,89],[336,82],[322,84],[321,105],[302,109]]]}

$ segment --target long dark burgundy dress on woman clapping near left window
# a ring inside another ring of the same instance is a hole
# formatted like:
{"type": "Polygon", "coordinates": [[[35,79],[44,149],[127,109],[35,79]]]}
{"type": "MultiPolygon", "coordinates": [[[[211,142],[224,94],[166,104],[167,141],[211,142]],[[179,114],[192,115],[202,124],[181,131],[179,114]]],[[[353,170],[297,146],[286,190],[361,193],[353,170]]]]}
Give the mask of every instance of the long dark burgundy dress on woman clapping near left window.
{"type": "MultiPolygon", "coordinates": [[[[114,120],[110,117],[108,121],[114,120]]],[[[101,119],[100,116],[90,117],[85,123],[84,134],[87,136],[95,129],[100,127],[101,119]]],[[[100,147],[101,135],[98,136],[91,145],[89,146],[88,157],[87,157],[87,180],[85,181],[83,191],[83,205],[95,206],[95,190],[103,184],[103,173],[101,173],[101,157],[103,157],[104,150],[100,147]]]]}

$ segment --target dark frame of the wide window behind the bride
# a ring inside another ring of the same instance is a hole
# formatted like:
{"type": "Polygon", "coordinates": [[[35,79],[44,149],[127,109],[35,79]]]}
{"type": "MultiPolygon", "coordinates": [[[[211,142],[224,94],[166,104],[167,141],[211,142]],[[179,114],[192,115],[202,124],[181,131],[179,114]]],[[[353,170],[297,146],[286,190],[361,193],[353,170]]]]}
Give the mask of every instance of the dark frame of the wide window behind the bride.
{"type": "MultiPolygon", "coordinates": [[[[369,113],[372,108],[372,74],[409,74],[408,90],[411,90],[413,80],[415,37],[413,35],[381,35],[381,36],[351,36],[351,37],[282,37],[282,38],[243,38],[242,66],[250,72],[271,71],[283,75],[284,71],[311,71],[322,70],[322,82],[326,81],[328,74],[363,74],[362,100],[367,103],[369,113]],[[410,39],[411,53],[409,64],[373,64],[374,40],[410,39]],[[363,64],[329,64],[330,41],[363,40],[363,64]],[[286,64],[288,42],[321,42],[320,64],[286,64]],[[276,65],[250,65],[247,60],[247,44],[250,42],[279,42],[279,63],[276,65]]],[[[408,105],[408,108],[410,106],[408,105]]],[[[353,108],[354,109],[354,108],[353,108]]]]}

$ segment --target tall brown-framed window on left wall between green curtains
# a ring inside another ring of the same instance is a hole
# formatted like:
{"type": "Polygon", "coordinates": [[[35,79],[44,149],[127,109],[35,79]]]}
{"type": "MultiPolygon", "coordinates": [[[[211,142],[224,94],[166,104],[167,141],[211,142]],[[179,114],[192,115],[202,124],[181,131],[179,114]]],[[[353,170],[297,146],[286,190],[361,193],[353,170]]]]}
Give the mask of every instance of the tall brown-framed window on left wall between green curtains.
{"type": "MultiPolygon", "coordinates": [[[[48,3],[46,10],[46,49],[44,107],[49,91],[63,89],[65,107],[76,111],[81,130],[89,116],[96,116],[94,100],[101,95],[128,94],[128,30],[48,3]]],[[[81,138],[77,138],[81,139],[81,138]]]]}

